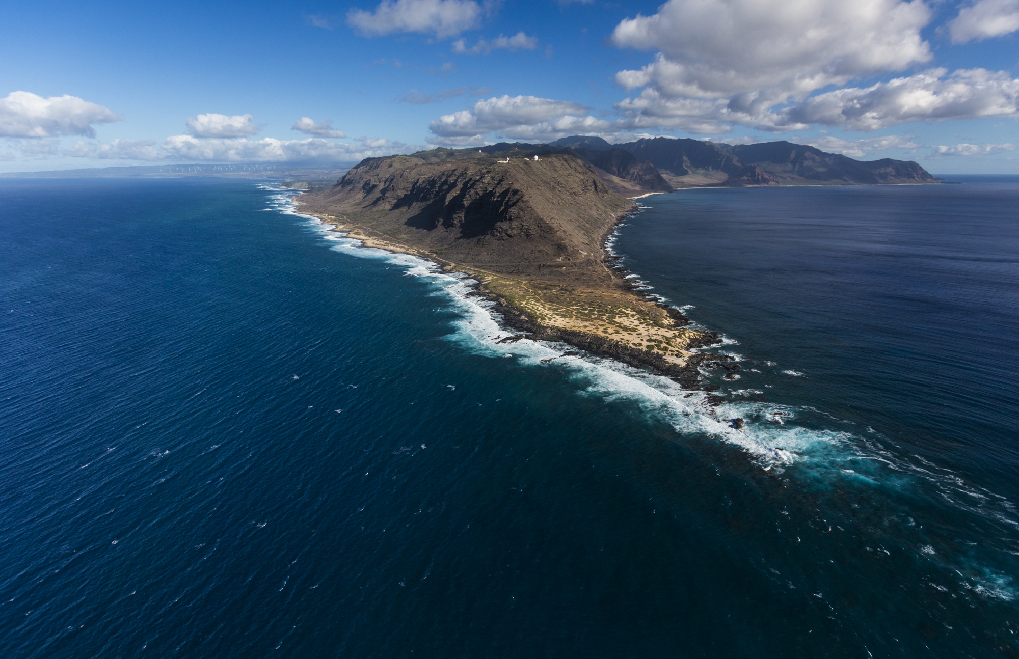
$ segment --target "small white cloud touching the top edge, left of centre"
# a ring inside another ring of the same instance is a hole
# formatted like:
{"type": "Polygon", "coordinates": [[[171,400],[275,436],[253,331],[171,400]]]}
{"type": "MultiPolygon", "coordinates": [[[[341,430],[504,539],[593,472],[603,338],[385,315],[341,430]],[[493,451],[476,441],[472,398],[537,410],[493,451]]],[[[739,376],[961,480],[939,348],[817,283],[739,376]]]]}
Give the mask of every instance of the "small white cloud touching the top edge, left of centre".
{"type": "Polygon", "coordinates": [[[478,28],[487,13],[474,0],[382,0],[374,11],[351,9],[346,22],[366,37],[421,33],[445,39],[478,28]]]}

